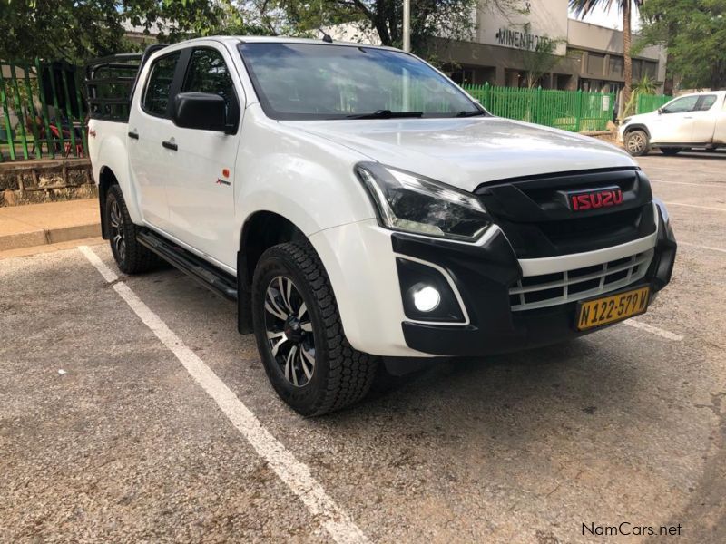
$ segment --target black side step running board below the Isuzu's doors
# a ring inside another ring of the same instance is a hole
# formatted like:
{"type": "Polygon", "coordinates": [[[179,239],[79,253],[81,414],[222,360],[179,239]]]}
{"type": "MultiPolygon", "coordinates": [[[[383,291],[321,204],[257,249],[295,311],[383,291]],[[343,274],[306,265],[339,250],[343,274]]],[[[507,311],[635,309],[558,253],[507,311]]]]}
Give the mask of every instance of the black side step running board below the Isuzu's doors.
{"type": "Polygon", "coordinates": [[[174,267],[227,300],[237,300],[237,279],[205,260],[173,244],[152,231],[140,232],[136,239],[174,267]]]}

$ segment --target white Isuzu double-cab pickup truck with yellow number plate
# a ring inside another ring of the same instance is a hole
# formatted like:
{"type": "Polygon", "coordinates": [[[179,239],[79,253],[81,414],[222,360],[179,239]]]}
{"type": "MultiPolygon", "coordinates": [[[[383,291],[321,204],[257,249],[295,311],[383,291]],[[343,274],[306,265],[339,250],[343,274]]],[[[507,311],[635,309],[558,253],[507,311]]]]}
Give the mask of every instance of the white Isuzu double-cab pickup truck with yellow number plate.
{"type": "Polygon", "coordinates": [[[633,159],[495,117],[412,54],[211,37],[87,78],[118,267],[161,257],[236,301],[299,413],[358,401],[381,363],[590,333],[670,281],[668,213],[633,159]]]}

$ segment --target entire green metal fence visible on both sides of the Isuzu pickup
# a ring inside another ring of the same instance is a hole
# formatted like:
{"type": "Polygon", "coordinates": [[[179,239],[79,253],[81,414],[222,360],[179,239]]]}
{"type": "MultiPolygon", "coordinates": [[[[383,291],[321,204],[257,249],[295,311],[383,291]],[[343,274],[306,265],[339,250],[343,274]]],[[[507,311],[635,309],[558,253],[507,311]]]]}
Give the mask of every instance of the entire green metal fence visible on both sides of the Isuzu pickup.
{"type": "MultiPolygon", "coordinates": [[[[61,63],[0,61],[0,161],[87,157],[83,70],[61,63]]],[[[602,131],[613,119],[614,93],[464,85],[489,112],[566,131],[602,131]]],[[[413,102],[426,97],[411,93],[413,102]]],[[[672,97],[641,94],[638,113],[672,97]]],[[[416,105],[416,104],[410,104],[416,105]]],[[[415,108],[414,108],[415,109],[415,108]]]]}

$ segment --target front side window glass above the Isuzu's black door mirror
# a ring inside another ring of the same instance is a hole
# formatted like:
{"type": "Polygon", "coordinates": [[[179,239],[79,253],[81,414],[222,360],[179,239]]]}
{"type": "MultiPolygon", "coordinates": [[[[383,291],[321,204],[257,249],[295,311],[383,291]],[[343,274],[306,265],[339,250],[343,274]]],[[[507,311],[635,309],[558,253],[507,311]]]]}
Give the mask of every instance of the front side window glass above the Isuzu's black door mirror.
{"type": "Polygon", "coordinates": [[[182,92],[218,94],[227,105],[227,122],[237,124],[240,104],[237,102],[237,94],[234,92],[234,83],[227,64],[216,49],[203,47],[191,52],[182,92]]]}

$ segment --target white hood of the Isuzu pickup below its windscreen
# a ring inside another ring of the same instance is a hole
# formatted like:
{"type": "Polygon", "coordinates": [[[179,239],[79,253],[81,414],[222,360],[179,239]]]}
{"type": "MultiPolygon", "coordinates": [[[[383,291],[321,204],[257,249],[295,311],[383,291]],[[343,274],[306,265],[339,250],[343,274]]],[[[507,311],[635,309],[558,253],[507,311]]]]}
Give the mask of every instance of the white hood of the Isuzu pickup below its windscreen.
{"type": "Polygon", "coordinates": [[[468,191],[520,176],[636,166],[603,141],[500,117],[284,122],[468,191]]]}

